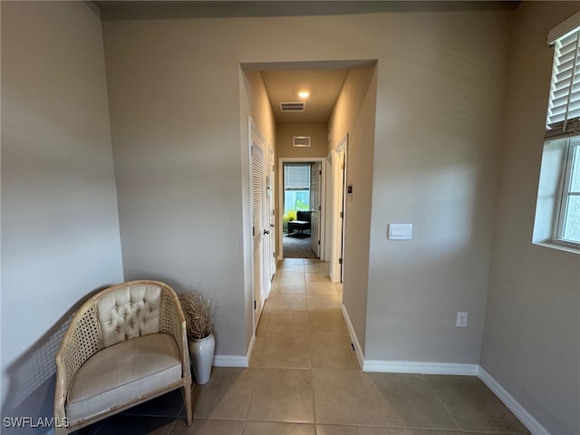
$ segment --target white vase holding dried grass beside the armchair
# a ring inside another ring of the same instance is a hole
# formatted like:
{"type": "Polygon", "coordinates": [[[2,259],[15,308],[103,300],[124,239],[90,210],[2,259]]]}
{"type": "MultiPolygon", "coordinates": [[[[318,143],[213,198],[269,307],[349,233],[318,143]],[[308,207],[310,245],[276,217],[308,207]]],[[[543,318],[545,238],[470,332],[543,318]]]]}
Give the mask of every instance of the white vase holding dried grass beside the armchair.
{"type": "Polygon", "coordinates": [[[192,290],[179,295],[179,302],[185,315],[191,368],[196,382],[202,385],[209,381],[216,349],[211,301],[198,290],[192,290]]]}

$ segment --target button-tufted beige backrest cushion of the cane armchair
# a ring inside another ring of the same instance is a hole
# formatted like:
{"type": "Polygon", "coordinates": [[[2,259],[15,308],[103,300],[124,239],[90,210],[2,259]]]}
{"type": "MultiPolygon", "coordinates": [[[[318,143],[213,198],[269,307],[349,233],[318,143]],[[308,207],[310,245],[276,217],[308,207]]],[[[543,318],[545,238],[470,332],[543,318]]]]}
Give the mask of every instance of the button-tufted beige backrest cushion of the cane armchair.
{"type": "Polygon", "coordinates": [[[157,285],[122,287],[97,302],[105,347],[160,331],[161,289],[157,285]]]}

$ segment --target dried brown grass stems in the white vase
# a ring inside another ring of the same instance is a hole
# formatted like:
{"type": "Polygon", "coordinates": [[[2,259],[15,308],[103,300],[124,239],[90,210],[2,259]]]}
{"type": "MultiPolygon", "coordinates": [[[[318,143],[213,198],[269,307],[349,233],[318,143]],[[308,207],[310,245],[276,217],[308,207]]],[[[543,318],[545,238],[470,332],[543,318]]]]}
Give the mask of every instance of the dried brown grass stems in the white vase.
{"type": "Polygon", "coordinates": [[[206,338],[214,330],[211,301],[198,290],[179,295],[189,340],[206,338]]]}

